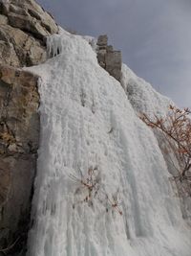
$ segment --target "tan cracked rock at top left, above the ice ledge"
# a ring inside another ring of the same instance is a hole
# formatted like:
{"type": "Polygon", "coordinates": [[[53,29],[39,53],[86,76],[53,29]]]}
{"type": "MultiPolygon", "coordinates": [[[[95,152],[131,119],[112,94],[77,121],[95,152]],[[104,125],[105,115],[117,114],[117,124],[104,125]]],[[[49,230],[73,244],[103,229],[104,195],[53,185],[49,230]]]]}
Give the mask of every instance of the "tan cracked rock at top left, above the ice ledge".
{"type": "Polygon", "coordinates": [[[46,36],[58,32],[53,17],[33,0],[0,0],[0,63],[32,66],[46,60],[46,36]]]}

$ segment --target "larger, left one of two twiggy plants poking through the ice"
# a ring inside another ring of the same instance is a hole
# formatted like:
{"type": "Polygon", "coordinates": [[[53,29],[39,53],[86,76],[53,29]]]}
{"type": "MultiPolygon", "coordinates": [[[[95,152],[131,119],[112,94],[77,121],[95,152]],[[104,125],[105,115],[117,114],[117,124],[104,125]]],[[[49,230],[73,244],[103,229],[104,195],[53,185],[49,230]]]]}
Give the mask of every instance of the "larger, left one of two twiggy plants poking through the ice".
{"type": "Polygon", "coordinates": [[[77,203],[87,202],[88,205],[93,206],[93,199],[96,198],[100,188],[100,174],[97,167],[90,167],[85,175],[79,169],[79,175],[80,177],[70,175],[76,183],[79,183],[74,194],[82,195],[82,199],[77,201],[77,203]]]}

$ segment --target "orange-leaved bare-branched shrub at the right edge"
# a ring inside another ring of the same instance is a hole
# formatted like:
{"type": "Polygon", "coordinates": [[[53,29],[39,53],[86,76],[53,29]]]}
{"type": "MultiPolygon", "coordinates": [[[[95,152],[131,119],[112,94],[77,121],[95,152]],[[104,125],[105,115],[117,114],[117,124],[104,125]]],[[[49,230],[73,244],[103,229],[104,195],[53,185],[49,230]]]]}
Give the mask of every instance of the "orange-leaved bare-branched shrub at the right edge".
{"type": "MultiPolygon", "coordinates": [[[[179,162],[179,168],[173,163],[178,171],[174,176],[176,182],[187,182],[186,194],[191,196],[191,111],[188,108],[180,108],[169,105],[169,112],[166,118],[155,116],[152,120],[146,114],[142,114],[140,119],[151,128],[158,128],[165,140],[168,142],[171,150],[179,162]]],[[[173,162],[173,161],[172,161],[173,162]]],[[[185,184],[185,183],[184,183],[185,184]]],[[[185,194],[185,191],[183,191],[185,194]]]]}

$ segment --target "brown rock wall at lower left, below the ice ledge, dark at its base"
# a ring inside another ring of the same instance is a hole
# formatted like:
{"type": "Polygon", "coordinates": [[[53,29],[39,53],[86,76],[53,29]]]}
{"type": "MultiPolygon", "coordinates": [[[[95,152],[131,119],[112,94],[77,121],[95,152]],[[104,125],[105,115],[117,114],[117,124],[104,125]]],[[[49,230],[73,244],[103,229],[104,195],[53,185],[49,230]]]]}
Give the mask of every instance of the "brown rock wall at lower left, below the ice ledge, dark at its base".
{"type": "Polygon", "coordinates": [[[18,239],[15,250],[29,228],[39,140],[37,81],[32,73],[0,65],[1,248],[18,239]]]}

